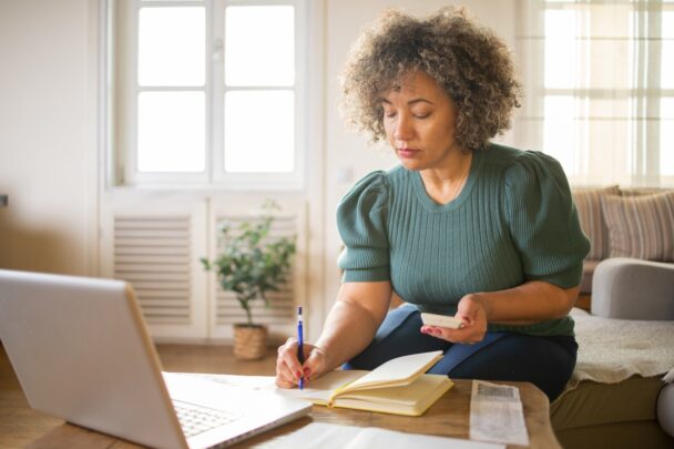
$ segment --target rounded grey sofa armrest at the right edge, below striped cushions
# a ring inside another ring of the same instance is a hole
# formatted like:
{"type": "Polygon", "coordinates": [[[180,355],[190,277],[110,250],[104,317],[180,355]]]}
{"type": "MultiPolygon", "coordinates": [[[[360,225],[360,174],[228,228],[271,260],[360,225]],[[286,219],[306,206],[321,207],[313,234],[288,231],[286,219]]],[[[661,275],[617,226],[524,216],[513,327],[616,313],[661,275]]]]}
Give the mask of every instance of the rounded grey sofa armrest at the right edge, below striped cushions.
{"type": "Polygon", "coordinates": [[[592,278],[592,315],[619,319],[674,319],[674,264],[614,257],[592,278]]]}

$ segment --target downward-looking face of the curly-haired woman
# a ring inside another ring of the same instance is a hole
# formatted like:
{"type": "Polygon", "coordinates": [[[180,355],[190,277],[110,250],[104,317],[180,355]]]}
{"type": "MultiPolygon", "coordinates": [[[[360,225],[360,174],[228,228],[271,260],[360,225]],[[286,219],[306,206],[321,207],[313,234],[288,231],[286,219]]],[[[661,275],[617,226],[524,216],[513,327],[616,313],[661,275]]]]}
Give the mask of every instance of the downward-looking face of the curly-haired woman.
{"type": "Polygon", "coordinates": [[[457,112],[436,80],[417,71],[400,89],[384,93],[384,129],[396,155],[408,170],[442,169],[460,150],[455,140],[457,112]]]}

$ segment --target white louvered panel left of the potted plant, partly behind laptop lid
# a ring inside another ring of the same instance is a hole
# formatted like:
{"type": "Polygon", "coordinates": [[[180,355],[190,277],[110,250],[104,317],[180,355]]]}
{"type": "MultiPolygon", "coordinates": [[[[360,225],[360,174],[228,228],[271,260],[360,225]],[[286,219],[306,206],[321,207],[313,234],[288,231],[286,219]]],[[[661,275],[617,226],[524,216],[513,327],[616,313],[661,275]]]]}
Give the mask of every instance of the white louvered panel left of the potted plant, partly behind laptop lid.
{"type": "Polygon", "coordinates": [[[101,271],[133,286],[153,338],[208,337],[206,255],[207,202],[153,195],[106,205],[101,271]]]}

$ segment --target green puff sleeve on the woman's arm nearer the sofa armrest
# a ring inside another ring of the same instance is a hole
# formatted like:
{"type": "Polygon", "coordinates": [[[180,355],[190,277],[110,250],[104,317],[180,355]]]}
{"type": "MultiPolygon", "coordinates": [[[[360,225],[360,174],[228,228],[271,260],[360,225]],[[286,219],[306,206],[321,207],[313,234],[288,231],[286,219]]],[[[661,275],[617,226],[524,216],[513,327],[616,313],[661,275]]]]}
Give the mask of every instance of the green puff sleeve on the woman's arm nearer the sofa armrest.
{"type": "Polygon", "coordinates": [[[580,284],[590,241],[556,160],[532,151],[514,160],[506,171],[504,216],[528,280],[580,284]]]}

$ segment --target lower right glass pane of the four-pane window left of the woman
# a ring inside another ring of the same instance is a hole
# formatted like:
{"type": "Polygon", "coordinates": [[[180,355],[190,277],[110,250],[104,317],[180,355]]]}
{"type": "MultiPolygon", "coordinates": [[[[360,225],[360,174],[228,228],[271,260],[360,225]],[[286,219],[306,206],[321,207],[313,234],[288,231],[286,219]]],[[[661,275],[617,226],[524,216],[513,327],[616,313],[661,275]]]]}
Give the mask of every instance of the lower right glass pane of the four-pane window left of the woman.
{"type": "Polygon", "coordinates": [[[225,171],[289,173],[295,169],[295,94],[225,94],[225,171]]]}

